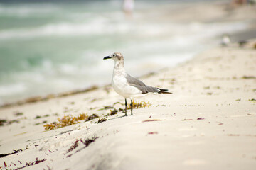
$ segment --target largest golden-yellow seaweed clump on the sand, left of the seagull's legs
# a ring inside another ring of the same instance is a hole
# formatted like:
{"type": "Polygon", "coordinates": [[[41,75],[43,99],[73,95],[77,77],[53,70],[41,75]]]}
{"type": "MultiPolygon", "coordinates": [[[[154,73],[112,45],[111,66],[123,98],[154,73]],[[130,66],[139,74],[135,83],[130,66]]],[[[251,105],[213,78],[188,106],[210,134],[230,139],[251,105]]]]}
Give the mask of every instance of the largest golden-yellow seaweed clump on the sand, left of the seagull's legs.
{"type": "Polygon", "coordinates": [[[74,125],[74,124],[80,123],[81,120],[89,121],[95,118],[99,118],[99,116],[96,114],[88,116],[87,113],[82,113],[77,117],[75,116],[73,117],[73,115],[64,115],[63,118],[58,118],[58,123],[53,122],[43,126],[45,127],[46,130],[54,130],[58,128],[63,128],[68,125],[74,125]]]}

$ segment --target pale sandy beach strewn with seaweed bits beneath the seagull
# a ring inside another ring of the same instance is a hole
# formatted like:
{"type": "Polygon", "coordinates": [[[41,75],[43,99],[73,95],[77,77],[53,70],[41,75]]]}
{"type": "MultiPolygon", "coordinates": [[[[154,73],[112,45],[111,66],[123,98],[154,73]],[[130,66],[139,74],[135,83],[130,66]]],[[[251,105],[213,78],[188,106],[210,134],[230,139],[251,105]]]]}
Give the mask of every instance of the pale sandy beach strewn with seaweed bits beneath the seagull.
{"type": "Polygon", "coordinates": [[[173,94],[135,100],[127,117],[111,86],[0,108],[1,169],[255,169],[256,40],[141,80],[173,94]]]}

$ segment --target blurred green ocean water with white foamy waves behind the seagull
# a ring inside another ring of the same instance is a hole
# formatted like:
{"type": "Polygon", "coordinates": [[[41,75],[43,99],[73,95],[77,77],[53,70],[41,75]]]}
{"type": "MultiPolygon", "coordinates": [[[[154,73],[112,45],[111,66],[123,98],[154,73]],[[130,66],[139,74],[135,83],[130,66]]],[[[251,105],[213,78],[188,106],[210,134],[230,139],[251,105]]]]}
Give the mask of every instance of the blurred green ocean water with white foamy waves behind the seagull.
{"type": "MultiPolygon", "coordinates": [[[[135,1],[132,17],[122,1],[0,3],[0,105],[31,96],[109,84],[122,52],[134,77],[174,67],[220,42],[245,22],[195,23],[145,19],[151,8],[184,1],[135,1]]],[[[166,17],[168,18],[168,17],[166,17]]]]}

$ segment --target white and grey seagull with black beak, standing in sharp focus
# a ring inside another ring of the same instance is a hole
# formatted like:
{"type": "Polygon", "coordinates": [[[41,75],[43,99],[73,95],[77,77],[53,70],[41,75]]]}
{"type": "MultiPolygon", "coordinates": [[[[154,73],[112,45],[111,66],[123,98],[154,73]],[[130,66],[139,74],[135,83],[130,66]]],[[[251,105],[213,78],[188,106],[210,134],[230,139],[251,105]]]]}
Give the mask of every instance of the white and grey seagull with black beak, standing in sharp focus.
{"type": "Polygon", "coordinates": [[[120,52],[114,52],[112,55],[106,56],[103,60],[114,60],[114,71],[112,75],[112,86],[114,91],[125,100],[125,115],[127,116],[127,98],[131,100],[132,115],[132,99],[146,96],[147,94],[172,94],[168,89],[160,89],[157,87],[147,86],[139,79],[135,79],[125,72],[124,57],[120,52]]]}

